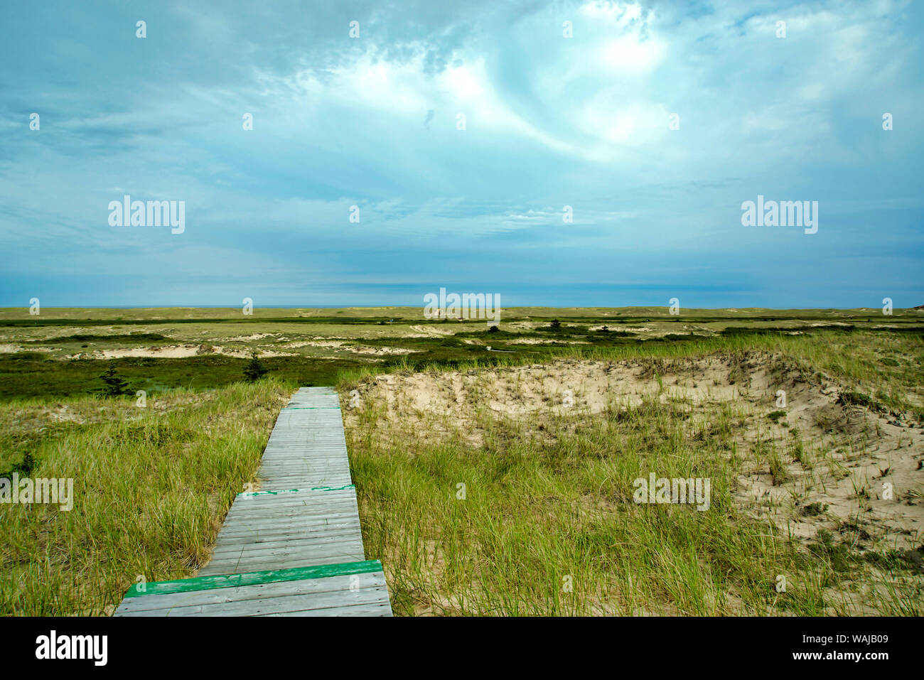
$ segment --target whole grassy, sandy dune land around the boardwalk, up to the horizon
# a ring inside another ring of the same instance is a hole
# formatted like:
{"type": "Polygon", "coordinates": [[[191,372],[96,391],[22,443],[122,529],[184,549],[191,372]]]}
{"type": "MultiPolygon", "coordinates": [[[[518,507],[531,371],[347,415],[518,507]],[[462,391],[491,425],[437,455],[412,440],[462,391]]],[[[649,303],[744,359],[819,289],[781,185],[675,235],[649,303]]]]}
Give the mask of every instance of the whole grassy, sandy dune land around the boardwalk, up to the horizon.
{"type": "Polygon", "coordinates": [[[106,615],[140,577],[194,575],[279,408],[333,384],[395,613],[919,615],[922,329],[911,310],[505,310],[496,331],[399,308],[0,310],[0,477],[74,480],[69,511],[0,504],[0,613],[106,615]],[[248,383],[253,353],[269,373],[248,383]],[[99,393],[110,368],[127,395],[99,393]],[[708,507],[637,503],[652,474],[709,480],[708,507]]]}

